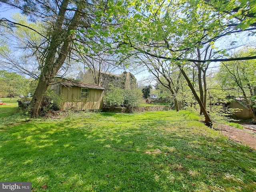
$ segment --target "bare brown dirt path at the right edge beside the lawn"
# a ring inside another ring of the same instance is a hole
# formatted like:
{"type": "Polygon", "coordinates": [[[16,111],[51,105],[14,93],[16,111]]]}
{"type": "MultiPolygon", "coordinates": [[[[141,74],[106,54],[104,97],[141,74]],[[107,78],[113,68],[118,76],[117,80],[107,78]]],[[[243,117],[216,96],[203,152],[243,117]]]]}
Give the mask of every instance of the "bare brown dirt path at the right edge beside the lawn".
{"type": "Polygon", "coordinates": [[[222,124],[218,127],[218,130],[220,130],[222,135],[227,136],[231,140],[256,150],[256,125],[247,126],[244,124],[243,126],[245,127],[244,129],[238,129],[222,124]]]}

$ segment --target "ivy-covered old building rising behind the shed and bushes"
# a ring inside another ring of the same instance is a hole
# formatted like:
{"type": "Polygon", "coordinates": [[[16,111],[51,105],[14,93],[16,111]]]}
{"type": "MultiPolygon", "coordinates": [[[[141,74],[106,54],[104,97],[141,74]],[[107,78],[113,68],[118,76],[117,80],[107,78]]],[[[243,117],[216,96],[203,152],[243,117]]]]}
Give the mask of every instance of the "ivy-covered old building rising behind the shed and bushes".
{"type": "Polygon", "coordinates": [[[123,72],[122,74],[112,74],[109,72],[99,72],[98,70],[87,70],[82,78],[83,82],[95,83],[108,90],[109,85],[122,89],[134,89],[136,88],[137,80],[130,72],[123,72]]]}

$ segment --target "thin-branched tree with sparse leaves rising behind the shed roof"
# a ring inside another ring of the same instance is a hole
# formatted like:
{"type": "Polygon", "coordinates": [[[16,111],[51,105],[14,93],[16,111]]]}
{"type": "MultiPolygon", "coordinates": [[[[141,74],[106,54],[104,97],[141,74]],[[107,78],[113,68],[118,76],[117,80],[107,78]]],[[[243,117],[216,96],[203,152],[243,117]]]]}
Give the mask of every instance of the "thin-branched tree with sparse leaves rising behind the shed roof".
{"type": "MultiPolygon", "coordinates": [[[[106,29],[106,28],[105,28],[106,29]]],[[[93,34],[86,34],[86,31],[79,30],[76,32],[76,36],[79,37],[79,43],[75,43],[76,60],[79,61],[80,71],[86,73],[90,71],[93,77],[94,83],[102,86],[102,74],[108,76],[116,70],[124,69],[117,57],[113,54],[113,51],[104,46],[105,40],[102,34],[102,28],[95,28],[91,31],[93,34]],[[95,35],[97,34],[97,35],[95,35]],[[88,49],[88,47],[92,47],[88,49]]]]}

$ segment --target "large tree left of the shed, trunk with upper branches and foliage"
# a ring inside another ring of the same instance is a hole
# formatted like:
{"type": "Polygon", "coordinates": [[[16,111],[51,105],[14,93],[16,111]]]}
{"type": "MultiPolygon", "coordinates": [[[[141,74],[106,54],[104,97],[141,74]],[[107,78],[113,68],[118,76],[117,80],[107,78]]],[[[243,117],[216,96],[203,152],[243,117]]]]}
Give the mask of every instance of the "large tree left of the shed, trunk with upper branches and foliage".
{"type": "MultiPolygon", "coordinates": [[[[37,116],[44,92],[54,80],[56,74],[72,50],[72,42],[76,38],[75,31],[79,28],[88,29],[98,8],[106,8],[103,1],[13,1],[1,0],[10,6],[19,8],[33,20],[46,22],[46,36],[43,40],[42,56],[40,58],[40,76],[38,86],[31,101],[31,116],[37,116]],[[94,4],[98,4],[97,8],[94,4]],[[95,10],[96,9],[96,10],[95,10]]],[[[18,24],[8,21],[12,24],[18,24]]],[[[18,24],[19,25],[19,24],[18,24]]],[[[38,48],[39,50],[39,48],[38,48]]]]}

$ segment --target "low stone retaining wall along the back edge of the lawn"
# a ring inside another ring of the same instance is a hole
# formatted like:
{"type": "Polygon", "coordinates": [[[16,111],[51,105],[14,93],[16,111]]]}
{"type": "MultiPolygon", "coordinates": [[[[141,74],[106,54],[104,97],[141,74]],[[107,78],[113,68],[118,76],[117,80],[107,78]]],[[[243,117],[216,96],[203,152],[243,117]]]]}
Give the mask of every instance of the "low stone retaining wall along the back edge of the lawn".
{"type": "Polygon", "coordinates": [[[141,106],[141,107],[116,107],[116,108],[102,108],[102,112],[112,113],[134,113],[134,112],[146,112],[146,111],[167,111],[171,110],[171,106],[141,106]]]}

